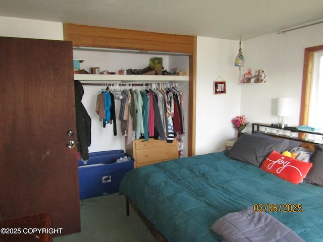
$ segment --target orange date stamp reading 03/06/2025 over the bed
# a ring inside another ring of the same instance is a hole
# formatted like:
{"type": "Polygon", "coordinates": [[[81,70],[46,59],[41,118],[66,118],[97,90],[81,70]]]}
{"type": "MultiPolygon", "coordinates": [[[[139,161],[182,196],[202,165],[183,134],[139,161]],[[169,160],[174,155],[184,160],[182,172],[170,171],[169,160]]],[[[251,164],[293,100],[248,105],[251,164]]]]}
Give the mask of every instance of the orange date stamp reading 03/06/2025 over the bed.
{"type": "Polygon", "coordinates": [[[255,203],[254,212],[274,212],[274,213],[300,213],[302,212],[301,203],[255,203]]]}

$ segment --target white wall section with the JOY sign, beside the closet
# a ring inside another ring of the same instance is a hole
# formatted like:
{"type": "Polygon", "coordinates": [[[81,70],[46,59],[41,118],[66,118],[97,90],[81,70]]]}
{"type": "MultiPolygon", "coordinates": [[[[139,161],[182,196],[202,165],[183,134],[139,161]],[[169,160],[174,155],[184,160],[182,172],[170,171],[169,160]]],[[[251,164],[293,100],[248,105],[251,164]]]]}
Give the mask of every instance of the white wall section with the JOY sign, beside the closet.
{"type": "Polygon", "coordinates": [[[224,150],[235,137],[231,118],[240,115],[239,41],[197,38],[196,154],[224,150]],[[213,81],[226,81],[226,94],[213,95],[213,81]]]}

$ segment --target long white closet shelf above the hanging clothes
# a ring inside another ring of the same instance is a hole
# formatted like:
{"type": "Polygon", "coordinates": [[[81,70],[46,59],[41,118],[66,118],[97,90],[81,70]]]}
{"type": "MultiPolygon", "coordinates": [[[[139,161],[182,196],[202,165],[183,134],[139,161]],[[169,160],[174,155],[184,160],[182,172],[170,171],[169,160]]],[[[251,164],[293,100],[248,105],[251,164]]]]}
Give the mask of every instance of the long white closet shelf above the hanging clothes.
{"type": "Polygon", "coordinates": [[[148,81],[148,82],[174,82],[188,81],[188,76],[166,75],[91,75],[74,74],[74,80],[78,81],[148,81]]]}

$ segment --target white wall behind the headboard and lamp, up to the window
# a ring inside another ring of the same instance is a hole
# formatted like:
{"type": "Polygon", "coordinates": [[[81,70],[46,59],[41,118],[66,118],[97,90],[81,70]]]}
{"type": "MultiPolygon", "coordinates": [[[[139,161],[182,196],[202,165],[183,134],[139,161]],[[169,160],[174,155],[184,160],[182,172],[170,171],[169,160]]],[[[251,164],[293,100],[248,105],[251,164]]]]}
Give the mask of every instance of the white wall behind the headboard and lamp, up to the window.
{"type": "Polygon", "coordinates": [[[322,33],[323,24],[319,24],[243,41],[245,67],[264,69],[267,74],[266,84],[241,87],[241,113],[250,123],[281,122],[276,115],[277,98],[290,97],[290,116],[284,119],[290,126],[299,125],[304,48],[322,45],[322,33]]]}

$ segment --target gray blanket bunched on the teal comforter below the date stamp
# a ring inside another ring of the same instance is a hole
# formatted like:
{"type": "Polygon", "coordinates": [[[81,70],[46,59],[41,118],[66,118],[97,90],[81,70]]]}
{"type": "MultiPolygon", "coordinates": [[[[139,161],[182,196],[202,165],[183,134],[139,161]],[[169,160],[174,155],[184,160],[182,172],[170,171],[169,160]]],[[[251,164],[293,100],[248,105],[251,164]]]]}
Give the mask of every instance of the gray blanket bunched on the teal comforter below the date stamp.
{"type": "Polygon", "coordinates": [[[251,207],[219,218],[211,230],[225,242],[305,242],[270,214],[251,207]]]}

